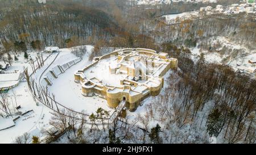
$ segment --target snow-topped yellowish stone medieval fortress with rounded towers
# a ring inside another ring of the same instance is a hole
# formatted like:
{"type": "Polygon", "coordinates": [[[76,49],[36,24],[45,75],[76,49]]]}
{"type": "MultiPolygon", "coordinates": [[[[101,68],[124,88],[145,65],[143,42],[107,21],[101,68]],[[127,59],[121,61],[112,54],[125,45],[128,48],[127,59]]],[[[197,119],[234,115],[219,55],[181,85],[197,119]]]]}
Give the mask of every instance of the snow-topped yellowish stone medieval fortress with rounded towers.
{"type": "Polygon", "coordinates": [[[163,87],[164,74],[177,68],[177,59],[151,49],[119,49],[101,57],[75,73],[86,97],[98,95],[110,108],[135,111],[148,96],[163,87]]]}

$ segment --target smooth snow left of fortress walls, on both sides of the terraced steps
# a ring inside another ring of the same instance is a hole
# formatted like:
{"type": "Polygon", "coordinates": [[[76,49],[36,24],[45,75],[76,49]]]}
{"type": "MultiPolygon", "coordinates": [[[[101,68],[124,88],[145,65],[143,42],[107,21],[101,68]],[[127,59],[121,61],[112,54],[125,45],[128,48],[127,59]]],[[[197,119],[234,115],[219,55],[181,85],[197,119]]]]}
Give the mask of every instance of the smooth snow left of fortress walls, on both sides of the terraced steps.
{"type": "MultiPolygon", "coordinates": [[[[87,51],[91,51],[93,47],[87,46],[86,48],[87,51]]],[[[69,49],[61,49],[59,58],[56,59],[49,69],[56,65],[64,64],[64,62],[68,62],[74,57],[76,56],[73,55],[69,49]]],[[[65,73],[60,74],[60,76],[53,81],[52,86],[49,86],[49,92],[55,94],[57,102],[77,112],[85,111],[86,114],[92,114],[92,112],[95,112],[99,107],[112,112],[113,110],[108,107],[105,99],[97,96],[84,97],[81,94],[81,85],[74,81],[74,73],[91,63],[88,61],[88,57],[89,52],[82,58],[82,61],[67,69],[65,73]]]]}

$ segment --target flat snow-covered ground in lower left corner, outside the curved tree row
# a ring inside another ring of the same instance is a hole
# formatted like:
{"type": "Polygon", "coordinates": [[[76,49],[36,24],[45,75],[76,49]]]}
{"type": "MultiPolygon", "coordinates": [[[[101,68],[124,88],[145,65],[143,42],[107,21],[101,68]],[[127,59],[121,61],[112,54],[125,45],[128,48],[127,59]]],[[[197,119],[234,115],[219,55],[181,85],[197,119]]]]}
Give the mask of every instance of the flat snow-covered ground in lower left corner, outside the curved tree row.
{"type": "MultiPolygon", "coordinates": [[[[20,118],[15,121],[14,127],[0,131],[0,143],[12,143],[16,137],[23,135],[25,132],[29,133],[33,129],[47,127],[49,119],[51,118],[51,114],[49,114],[51,110],[49,110],[49,108],[42,104],[36,106],[26,82],[21,82],[19,86],[9,91],[8,95],[11,97],[11,102],[15,102],[13,92],[16,95],[18,106],[21,107],[19,109],[20,112],[33,111],[24,116],[20,116],[20,118]]],[[[9,119],[14,119],[17,116],[13,116],[13,118],[9,116],[9,119]]],[[[4,121],[3,118],[0,119],[0,124],[4,121]]]]}

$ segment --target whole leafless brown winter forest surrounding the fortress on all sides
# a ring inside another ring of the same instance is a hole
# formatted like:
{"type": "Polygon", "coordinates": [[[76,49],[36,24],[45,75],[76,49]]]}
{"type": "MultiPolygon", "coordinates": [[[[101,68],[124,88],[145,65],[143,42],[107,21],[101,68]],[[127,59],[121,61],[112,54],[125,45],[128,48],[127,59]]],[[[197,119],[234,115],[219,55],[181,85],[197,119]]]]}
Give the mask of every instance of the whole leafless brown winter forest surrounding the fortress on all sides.
{"type": "MultiPolygon", "coordinates": [[[[93,45],[90,61],[114,49],[139,47],[167,52],[179,60],[179,68],[164,79],[166,87],[145,106],[145,115],[137,115],[137,121],[122,118],[111,124],[103,122],[109,117],[103,109],[90,116],[57,109],[54,94],[48,94],[47,89],[30,79],[25,68],[25,78],[34,95],[46,100],[47,106],[56,107],[49,124],[67,132],[68,143],[209,143],[213,136],[218,143],[256,143],[255,79],[238,75],[227,65],[209,63],[203,54],[194,61],[189,49],[197,45],[209,51],[217,48],[208,43],[214,36],[255,49],[255,14],[177,18],[175,24],[166,24],[163,14],[216,4],[180,2],[144,7],[125,0],[52,0],[47,5],[33,0],[0,3],[0,60],[10,65],[18,53],[27,57],[30,50],[42,51],[51,45],[93,45]],[[158,124],[150,127],[151,122],[158,124]]],[[[218,4],[231,3],[239,1],[218,4]]],[[[86,48],[72,48],[72,53],[82,57],[86,48]]],[[[30,64],[33,71],[36,64],[42,67],[42,55],[30,64]]],[[[19,112],[16,106],[16,100],[0,94],[0,115],[19,112]]],[[[48,141],[60,141],[54,130],[43,132],[48,141]]],[[[18,137],[16,143],[27,143],[27,136],[18,137]]],[[[36,137],[34,140],[39,143],[36,137]]]]}

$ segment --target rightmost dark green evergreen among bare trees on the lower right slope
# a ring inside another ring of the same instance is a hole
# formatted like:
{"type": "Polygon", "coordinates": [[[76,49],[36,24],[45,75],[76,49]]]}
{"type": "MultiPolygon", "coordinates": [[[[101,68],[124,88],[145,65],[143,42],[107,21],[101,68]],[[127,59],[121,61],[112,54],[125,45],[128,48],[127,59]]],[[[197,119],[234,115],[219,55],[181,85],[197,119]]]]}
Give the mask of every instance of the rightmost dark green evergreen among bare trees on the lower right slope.
{"type": "Polygon", "coordinates": [[[207,119],[207,132],[210,136],[218,136],[222,127],[222,120],[221,112],[217,108],[210,112],[207,119]]]}

